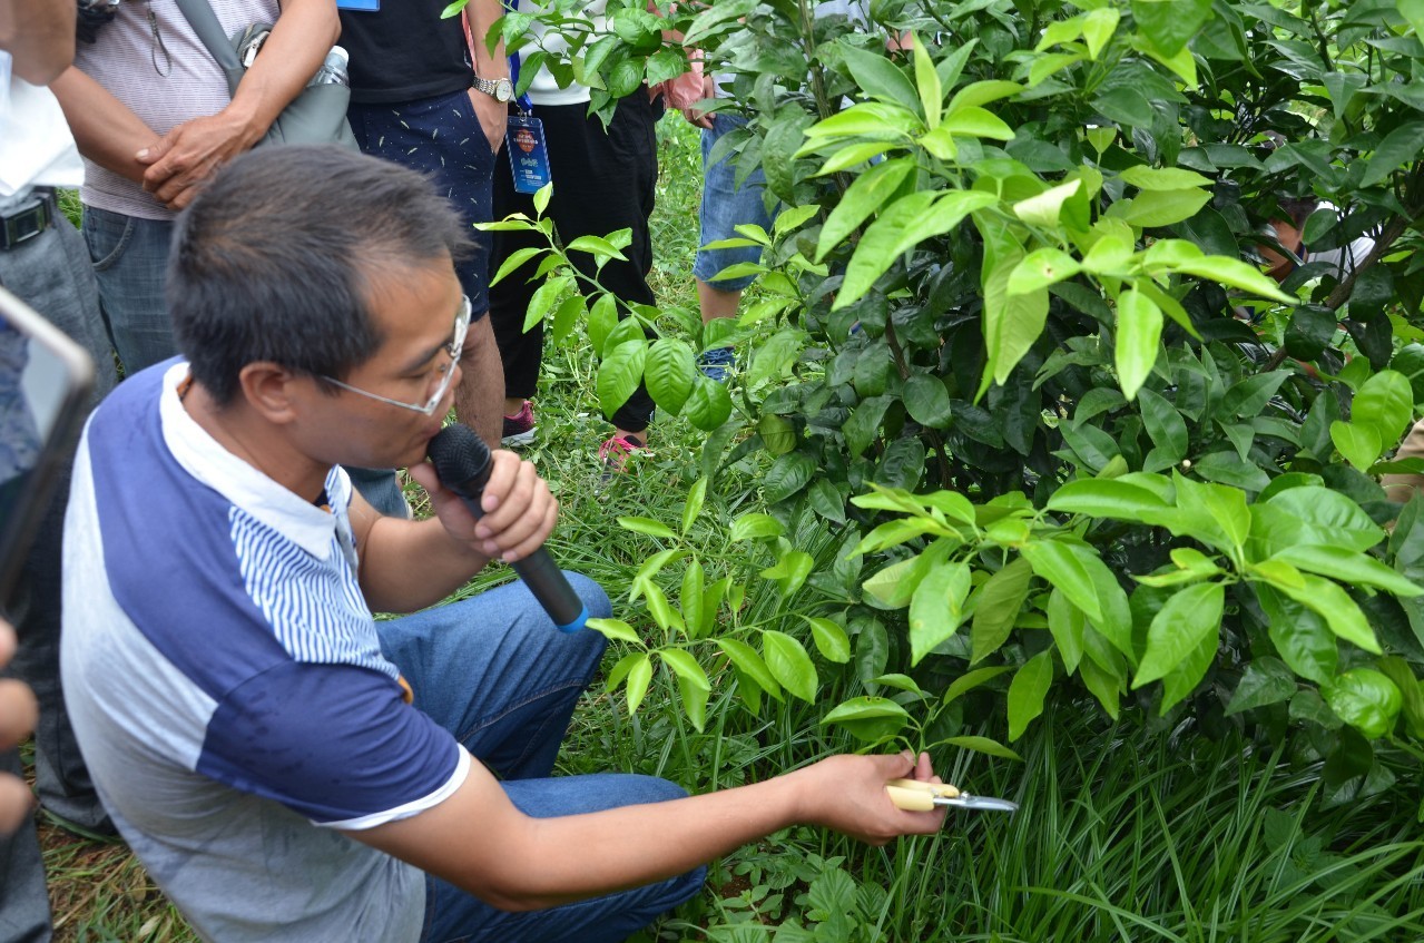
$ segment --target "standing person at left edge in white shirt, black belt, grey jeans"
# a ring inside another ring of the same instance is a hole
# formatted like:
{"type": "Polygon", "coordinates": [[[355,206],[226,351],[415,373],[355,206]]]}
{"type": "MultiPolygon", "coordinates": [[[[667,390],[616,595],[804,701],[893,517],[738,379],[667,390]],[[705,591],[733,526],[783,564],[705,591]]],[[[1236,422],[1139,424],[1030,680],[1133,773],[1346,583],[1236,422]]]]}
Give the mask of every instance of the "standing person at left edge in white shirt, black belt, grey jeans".
{"type": "MultiPolygon", "coordinates": [[[[74,56],[75,6],[68,0],[0,0],[0,286],[78,342],[95,363],[98,399],[114,385],[112,358],[84,241],[60,212],[56,187],[75,187],[84,167],[54,94],[46,87],[74,56]]],[[[68,464],[41,521],[10,615],[19,630],[11,671],[38,698],[36,785],[66,823],[112,832],[80,758],[60,694],[60,538],[68,464]]],[[[9,601],[3,601],[9,603],[9,601]]],[[[13,682],[4,682],[13,692],[13,682]]],[[[11,746],[11,745],[7,745],[11,746]]],[[[0,769],[20,772],[13,749],[0,769]]],[[[34,819],[0,838],[0,939],[48,940],[50,903],[34,819]]]]}

